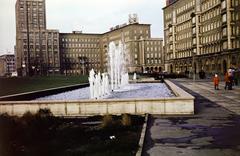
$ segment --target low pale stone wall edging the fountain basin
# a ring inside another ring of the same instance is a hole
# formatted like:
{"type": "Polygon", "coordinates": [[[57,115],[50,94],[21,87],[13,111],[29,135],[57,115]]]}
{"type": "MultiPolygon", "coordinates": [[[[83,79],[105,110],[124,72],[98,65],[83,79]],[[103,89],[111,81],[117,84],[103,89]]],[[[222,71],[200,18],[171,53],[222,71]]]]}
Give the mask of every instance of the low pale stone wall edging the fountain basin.
{"type": "Polygon", "coordinates": [[[194,114],[194,97],[170,81],[167,85],[177,95],[161,99],[107,99],[81,101],[8,101],[0,102],[0,113],[21,116],[49,108],[56,116],[90,116],[104,114],[194,114]]]}

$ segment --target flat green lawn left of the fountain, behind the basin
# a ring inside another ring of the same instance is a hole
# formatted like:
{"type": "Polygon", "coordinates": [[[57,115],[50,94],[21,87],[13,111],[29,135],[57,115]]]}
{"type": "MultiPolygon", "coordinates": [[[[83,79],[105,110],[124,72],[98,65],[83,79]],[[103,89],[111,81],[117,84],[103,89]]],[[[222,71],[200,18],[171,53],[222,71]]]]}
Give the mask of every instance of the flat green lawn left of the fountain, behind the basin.
{"type": "Polygon", "coordinates": [[[87,83],[87,76],[0,78],[0,96],[87,83]]]}

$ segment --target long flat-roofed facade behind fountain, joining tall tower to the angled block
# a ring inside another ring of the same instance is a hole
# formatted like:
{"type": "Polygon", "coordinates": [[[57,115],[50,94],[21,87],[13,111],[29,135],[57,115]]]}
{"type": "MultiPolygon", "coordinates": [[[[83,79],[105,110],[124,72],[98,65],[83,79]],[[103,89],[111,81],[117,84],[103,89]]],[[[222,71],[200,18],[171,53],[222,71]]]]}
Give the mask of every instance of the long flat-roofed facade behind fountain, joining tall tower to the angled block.
{"type": "Polygon", "coordinates": [[[64,74],[86,74],[101,70],[100,34],[60,34],[61,70],[64,74]]]}

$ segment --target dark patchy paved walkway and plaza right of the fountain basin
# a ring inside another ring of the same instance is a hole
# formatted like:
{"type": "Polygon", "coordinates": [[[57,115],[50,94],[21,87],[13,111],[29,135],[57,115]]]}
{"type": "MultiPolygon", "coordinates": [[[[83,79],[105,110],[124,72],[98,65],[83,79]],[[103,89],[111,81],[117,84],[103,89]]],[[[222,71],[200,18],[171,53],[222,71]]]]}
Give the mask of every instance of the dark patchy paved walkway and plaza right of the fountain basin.
{"type": "Polygon", "coordinates": [[[196,97],[195,115],[150,116],[144,156],[239,156],[240,88],[214,90],[210,80],[178,79],[196,97]]]}

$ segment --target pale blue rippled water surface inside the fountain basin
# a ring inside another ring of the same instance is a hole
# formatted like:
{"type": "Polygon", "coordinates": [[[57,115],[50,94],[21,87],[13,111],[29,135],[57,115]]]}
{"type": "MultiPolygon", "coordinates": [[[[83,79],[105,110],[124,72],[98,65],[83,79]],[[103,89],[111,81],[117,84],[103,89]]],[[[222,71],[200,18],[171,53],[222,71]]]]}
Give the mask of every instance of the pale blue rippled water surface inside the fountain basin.
{"type": "MultiPolygon", "coordinates": [[[[34,101],[48,100],[83,100],[89,99],[89,87],[80,88],[73,91],[37,98],[34,101]]],[[[174,97],[175,95],[164,83],[134,83],[116,89],[102,99],[148,99],[174,97]]]]}

